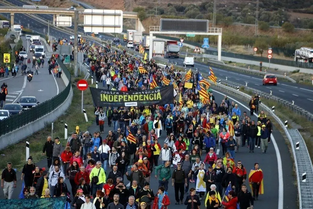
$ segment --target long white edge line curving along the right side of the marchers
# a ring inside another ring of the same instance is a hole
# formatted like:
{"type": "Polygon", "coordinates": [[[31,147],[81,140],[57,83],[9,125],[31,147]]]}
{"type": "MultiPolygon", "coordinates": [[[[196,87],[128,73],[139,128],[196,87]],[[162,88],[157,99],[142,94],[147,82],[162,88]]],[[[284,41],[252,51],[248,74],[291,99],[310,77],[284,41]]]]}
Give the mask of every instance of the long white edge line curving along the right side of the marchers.
{"type": "MultiPolygon", "coordinates": [[[[216,93],[219,93],[221,95],[224,95],[218,91],[212,90],[216,93]]],[[[228,97],[228,96],[227,96],[228,97]]],[[[228,97],[229,99],[235,101],[236,103],[238,103],[239,105],[243,106],[244,108],[246,108],[248,111],[250,110],[249,107],[245,106],[244,104],[242,104],[241,102],[239,102],[238,100],[232,98],[232,97],[228,97]]],[[[258,115],[256,113],[253,113],[254,116],[258,117],[258,115]]],[[[272,143],[274,145],[275,148],[275,153],[276,153],[276,158],[277,158],[277,168],[278,168],[278,209],[283,209],[284,208],[284,181],[283,181],[283,167],[282,167],[282,162],[281,162],[281,157],[280,157],[280,152],[277,146],[277,143],[275,141],[275,138],[273,136],[273,133],[271,135],[273,138],[272,139],[272,143]]]]}

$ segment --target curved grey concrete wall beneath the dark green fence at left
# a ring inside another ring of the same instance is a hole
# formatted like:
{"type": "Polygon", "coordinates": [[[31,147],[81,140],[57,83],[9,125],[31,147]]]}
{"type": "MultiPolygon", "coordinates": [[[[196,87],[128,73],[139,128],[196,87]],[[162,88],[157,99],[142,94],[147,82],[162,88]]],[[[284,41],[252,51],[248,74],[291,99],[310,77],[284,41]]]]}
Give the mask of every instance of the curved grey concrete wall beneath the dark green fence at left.
{"type": "Polygon", "coordinates": [[[73,98],[73,89],[71,88],[69,91],[69,96],[54,111],[12,132],[2,135],[0,137],[0,150],[6,148],[11,144],[17,143],[18,141],[32,135],[33,133],[39,131],[40,129],[43,129],[47,123],[52,123],[53,121],[55,121],[57,118],[59,118],[59,116],[61,116],[66,111],[67,108],[69,108],[72,102],[72,98],[73,98]]]}

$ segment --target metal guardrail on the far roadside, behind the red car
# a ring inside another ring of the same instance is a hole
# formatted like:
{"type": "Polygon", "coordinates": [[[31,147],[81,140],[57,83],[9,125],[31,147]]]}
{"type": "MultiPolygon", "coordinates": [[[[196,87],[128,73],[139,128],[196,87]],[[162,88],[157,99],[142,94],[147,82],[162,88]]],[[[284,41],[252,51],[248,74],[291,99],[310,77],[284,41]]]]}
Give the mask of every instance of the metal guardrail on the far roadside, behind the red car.
{"type": "Polygon", "coordinates": [[[266,72],[263,72],[263,71],[249,70],[249,69],[246,69],[246,68],[243,68],[243,67],[235,67],[235,66],[231,66],[231,65],[226,65],[226,64],[220,63],[220,61],[212,60],[212,59],[208,60],[208,63],[210,65],[212,65],[212,66],[215,66],[215,67],[221,67],[221,68],[226,68],[226,69],[230,69],[230,70],[241,71],[241,72],[254,74],[254,75],[264,76],[264,75],[267,75],[267,74],[271,74],[271,75],[275,75],[278,78],[282,78],[282,79],[291,81],[293,83],[296,83],[295,80],[293,80],[292,78],[290,78],[288,76],[282,76],[282,75],[273,74],[273,73],[266,73],[266,72]]]}

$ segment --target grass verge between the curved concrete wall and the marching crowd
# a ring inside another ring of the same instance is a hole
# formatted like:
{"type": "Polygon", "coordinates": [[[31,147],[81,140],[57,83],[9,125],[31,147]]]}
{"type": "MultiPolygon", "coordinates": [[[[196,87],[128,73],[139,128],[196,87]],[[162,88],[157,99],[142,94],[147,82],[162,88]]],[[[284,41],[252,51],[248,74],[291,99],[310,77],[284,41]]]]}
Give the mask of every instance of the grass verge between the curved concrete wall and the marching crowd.
{"type": "MultiPolygon", "coordinates": [[[[69,68],[69,66],[68,66],[69,68]]],[[[73,69],[69,68],[73,75],[73,69]]],[[[94,121],[94,107],[89,89],[84,92],[84,109],[87,113],[88,122],[86,123],[84,113],[81,112],[81,91],[77,89],[76,83],[82,77],[74,78],[72,76],[73,99],[70,107],[54,121],[53,138],[59,137],[63,146],[66,145],[67,138],[64,139],[64,123],[68,125],[68,136],[75,130],[76,126],[80,126],[80,130],[86,131],[94,121]]],[[[89,79],[89,85],[91,81],[89,79]]],[[[46,155],[42,156],[42,149],[48,136],[51,136],[51,123],[46,124],[45,128],[33,133],[33,135],[21,140],[20,142],[10,145],[6,149],[0,150],[0,169],[6,167],[7,162],[13,163],[13,168],[22,169],[26,163],[26,141],[29,142],[29,155],[33,157],[33,163],[46,159],[46,155]]]]}

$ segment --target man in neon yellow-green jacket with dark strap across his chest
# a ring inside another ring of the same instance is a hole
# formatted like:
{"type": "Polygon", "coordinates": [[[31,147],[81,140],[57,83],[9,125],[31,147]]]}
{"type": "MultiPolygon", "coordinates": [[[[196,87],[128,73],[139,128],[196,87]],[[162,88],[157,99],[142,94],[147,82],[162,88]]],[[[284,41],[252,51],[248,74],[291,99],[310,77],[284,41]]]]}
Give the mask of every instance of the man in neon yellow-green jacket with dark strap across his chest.
{"type": "Polygon", "coordinates": [[[97,161],[96,166],[90,172],[89,178],[92,184],[92,195],[95,197],[97,190],[102,190],[103,184],[106,182],[106,176],[101,161],[97,161]],[[98,181],[96,179],[98,179],[98,181]]]}

